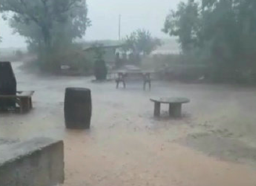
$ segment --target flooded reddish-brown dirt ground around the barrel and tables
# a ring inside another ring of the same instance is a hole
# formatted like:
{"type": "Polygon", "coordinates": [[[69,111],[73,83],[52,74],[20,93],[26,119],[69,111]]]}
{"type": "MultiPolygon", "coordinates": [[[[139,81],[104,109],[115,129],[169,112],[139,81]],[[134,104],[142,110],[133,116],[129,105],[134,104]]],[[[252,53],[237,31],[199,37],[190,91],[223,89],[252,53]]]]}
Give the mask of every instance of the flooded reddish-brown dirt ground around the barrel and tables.
{"type": "MultiPolygon", "coordinates": [[[[86,77],[29,74],[13,63],[18,90],[35,90],[34,109],[1,114],[0,137],[64,140],[65,186],[256,186],[256,88],[154,81],[116,89],[86,77]],[[65,87],[92,91],[89,131],[66,130],[65,87]],[[150,97],[187,97],[183,117],[150,97]]],[[[3,140],[2,140],[3,141],[3,140]]],[[[4,143],[4,142],[3,142],[4,143]]]]}

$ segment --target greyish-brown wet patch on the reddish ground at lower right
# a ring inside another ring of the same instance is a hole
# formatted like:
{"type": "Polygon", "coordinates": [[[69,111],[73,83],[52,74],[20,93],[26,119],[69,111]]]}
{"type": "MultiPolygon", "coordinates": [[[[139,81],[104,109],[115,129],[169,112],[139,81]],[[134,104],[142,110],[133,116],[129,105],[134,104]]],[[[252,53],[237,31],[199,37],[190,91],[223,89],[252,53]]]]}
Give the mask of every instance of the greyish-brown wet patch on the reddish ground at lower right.
{"type": "Polygon", "coordinates": [[[190,134],[181,144],[225,161],[241,162],[256,167],[256,148],[232,138],[231,133],[219,136],[210,133],[190,134]]]}

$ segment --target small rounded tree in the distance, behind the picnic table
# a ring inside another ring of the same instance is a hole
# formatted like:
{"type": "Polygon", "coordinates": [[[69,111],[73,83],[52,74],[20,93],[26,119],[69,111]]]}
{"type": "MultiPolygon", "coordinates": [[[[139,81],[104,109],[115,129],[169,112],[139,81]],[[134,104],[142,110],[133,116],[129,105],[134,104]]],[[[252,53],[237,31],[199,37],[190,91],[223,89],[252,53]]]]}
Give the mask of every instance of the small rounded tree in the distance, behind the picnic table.
{"type": "Polygon", "coordinates": [[[150,54],[159,45],[161,45],[160,39],[153,38],[149,31],[138,29],[130,36],[126,36],[123,48],[132,50],[133,53],[150,54]]]}

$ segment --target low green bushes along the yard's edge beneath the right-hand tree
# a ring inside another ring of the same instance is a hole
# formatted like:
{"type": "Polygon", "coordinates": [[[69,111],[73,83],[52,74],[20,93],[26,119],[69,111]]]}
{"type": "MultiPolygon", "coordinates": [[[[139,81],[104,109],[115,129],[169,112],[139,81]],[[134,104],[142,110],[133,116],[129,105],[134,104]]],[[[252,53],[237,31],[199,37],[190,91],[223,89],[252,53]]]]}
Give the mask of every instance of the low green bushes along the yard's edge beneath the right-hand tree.
{"type": "Polygon", "coordinates": [[[170,80],[196,80],[204,76],[208,82],[256,84],[256,68],[230,66],[229,62],[222,61],[218,63],[206,51],[197,49],[186,54],[151,55],[142,61],[142,68],[155,69],[162,76],[165,73],[165,78],[170,80]]]}

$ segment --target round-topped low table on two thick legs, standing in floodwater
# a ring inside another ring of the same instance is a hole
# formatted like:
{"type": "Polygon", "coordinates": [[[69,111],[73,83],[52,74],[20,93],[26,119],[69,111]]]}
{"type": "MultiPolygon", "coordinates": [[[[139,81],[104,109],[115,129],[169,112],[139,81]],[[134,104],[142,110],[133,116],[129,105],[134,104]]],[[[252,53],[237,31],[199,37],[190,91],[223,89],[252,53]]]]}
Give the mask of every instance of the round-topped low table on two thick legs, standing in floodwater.
{"type": "Polygon", "coordinates": [[[150,101],[154,102],[154,116],[160,116],[161,103],[169,104],[169,115],[172,117],[181,117],[181,105],[183,103],[189,103],[188,98],[152,98],[150,101]]]}

